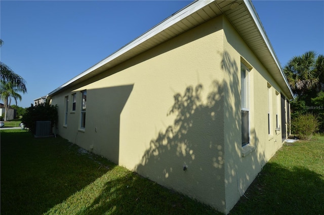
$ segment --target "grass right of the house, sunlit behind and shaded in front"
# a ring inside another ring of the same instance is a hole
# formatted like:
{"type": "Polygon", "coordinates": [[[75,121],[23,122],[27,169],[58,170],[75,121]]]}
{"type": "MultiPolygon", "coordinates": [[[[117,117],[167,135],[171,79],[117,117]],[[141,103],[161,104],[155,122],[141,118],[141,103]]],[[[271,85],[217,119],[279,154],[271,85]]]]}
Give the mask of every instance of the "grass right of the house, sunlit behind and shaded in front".
{"type": "Polygon", "coordinates": [[[324,136],[284,144],[230,214],[324,214],[324,136]]]}

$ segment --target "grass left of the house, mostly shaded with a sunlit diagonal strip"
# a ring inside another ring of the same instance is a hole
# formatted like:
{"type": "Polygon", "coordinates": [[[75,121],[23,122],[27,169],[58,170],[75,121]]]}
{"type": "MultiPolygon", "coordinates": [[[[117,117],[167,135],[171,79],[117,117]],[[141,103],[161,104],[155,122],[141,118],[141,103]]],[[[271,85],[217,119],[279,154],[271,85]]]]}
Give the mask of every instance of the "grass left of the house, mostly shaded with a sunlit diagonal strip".
{"type": "Polygon", "coordinates": [[[1,131],[3,215],[190,213],[218,214],[60,137],[1,131]]]}

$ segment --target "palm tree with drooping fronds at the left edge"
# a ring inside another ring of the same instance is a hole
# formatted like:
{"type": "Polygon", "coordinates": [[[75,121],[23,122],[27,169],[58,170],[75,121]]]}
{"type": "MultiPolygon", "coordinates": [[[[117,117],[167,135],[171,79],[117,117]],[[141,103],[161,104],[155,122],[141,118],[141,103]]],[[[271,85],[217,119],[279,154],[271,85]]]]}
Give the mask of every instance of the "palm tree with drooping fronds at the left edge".
{"type": "MultiPolygon", "coordinates": [[[[0,47],[4,41],[0,39],[0,47]]],[[[7,112],[10,108],[11,100],[14,99],[17,105],[17,99],[21,101],[21,95],[18,92],[26,93],[26,81],[6,64],[0,62],[0,94],[5,106],[5,121],[7,120],[7,112]]]]}

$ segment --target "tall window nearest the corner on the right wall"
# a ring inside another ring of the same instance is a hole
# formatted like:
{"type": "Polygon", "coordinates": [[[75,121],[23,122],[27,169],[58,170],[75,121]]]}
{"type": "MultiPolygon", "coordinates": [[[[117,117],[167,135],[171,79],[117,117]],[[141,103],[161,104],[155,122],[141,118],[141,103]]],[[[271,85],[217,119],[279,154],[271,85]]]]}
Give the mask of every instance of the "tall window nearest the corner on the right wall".
{"type": "Polygon", "coordinates": [[[249,128],[249,69],[241,64],[241,130],[242,146],[250,142],[249,128]]]}

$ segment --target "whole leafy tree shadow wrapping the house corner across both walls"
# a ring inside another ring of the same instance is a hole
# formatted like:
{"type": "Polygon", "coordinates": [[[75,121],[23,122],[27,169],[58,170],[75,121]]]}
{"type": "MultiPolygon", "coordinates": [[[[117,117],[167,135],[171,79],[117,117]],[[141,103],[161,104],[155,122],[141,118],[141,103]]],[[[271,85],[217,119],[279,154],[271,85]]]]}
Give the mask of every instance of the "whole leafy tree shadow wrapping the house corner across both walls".
{"type": "MultiPolygon", "coordinates": [[[[237,162],[241,160],[240,73],[229,53],[221,55],[224,80],[211,81],[206,99],[203,97],[206,86],[202,84],[190,85],[183,94],[175,94],[168,112],[175,115],[174,123],[150,141],[135,168],[142,176],[216,208],[225,206],[225,178],[227,184],[240,189],[254,178],[237,175],[238,169],[244,168],[241,161],[237,162]],[[224,144],[228,153],[226,164],[224,144]],[[187,169],[183,170],[184,167],[187,169]]],[[[250,140],[258,145],[254,129],[250,131],[250,140]]],[[[261,169],[264,153],[251,156],[249,168],[261,169]]],[[[239,192],[242,195],[244,191],[239,192]]]]}

